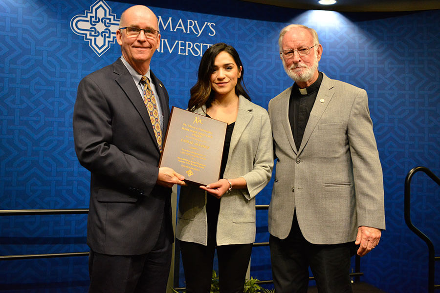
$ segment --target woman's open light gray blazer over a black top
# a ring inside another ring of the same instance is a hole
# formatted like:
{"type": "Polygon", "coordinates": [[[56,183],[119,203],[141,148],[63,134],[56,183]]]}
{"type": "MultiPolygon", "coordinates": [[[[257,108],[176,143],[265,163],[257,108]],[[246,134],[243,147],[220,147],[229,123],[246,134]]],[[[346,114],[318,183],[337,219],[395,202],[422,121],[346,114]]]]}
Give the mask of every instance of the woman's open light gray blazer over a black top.
{"type": "MultiPolygon", "coordinates": [[[[205,114],[206,107],[198,108],[205,114]]],[[[217,245],[255,241],[255,196],[269,182],[273,167],[272,132],[267,111],[240,96],[224,178],[243,177],[247,189],[232,189],[220,200],[217,245]]],[[[176,238],[207,245],[206,197],[198,185],[180,188],[176,238]]]]}

